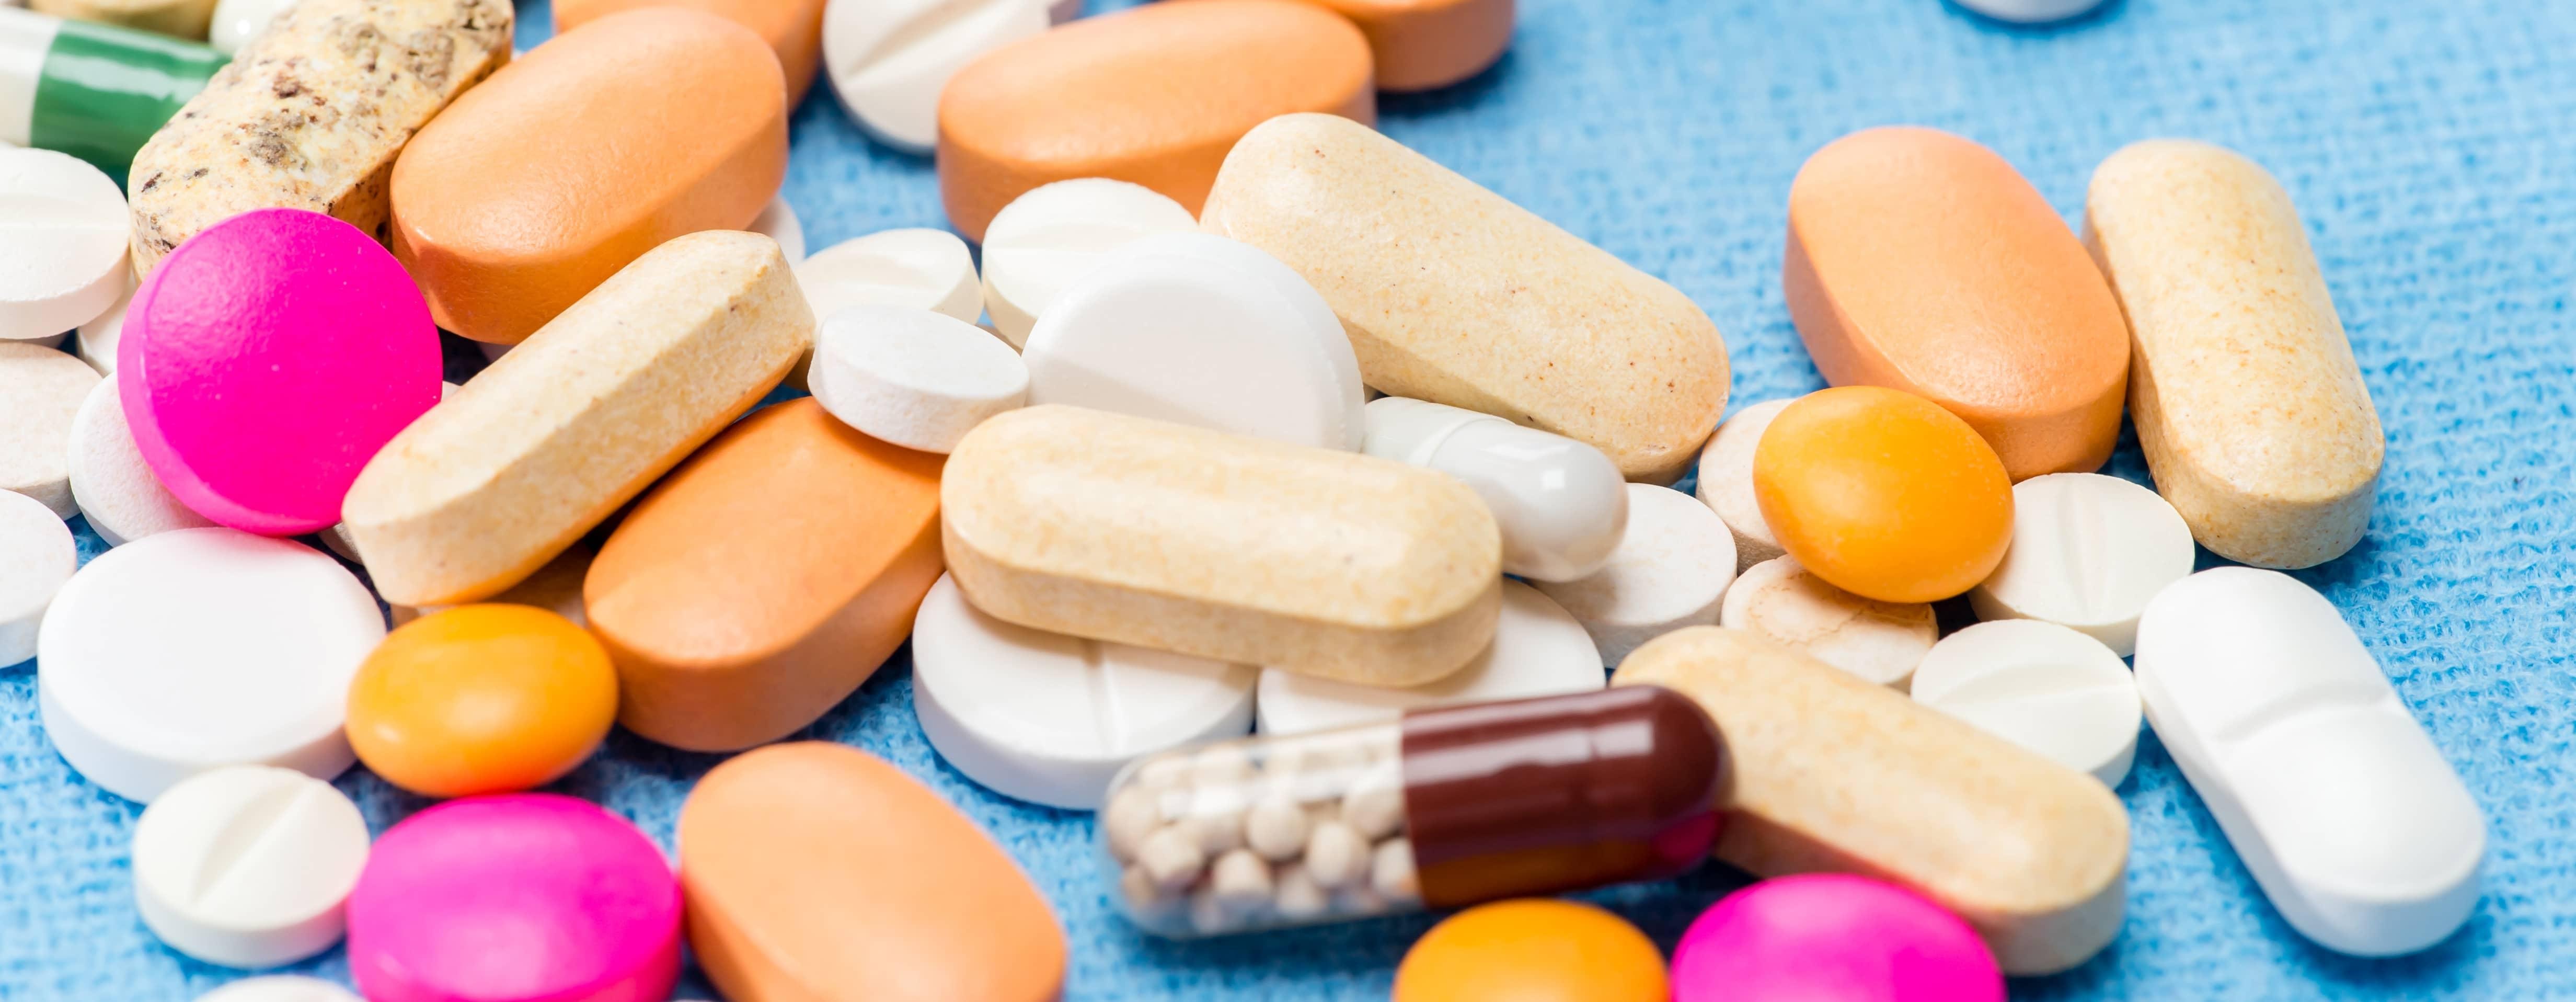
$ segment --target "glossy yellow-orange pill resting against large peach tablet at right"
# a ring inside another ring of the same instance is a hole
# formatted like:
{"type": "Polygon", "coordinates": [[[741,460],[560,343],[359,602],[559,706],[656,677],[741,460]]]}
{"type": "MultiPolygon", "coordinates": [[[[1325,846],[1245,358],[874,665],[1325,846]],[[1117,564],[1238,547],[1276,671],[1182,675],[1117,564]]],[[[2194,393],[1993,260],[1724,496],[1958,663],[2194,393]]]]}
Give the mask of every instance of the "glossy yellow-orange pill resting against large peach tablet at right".
{"type": "Polygon", "coordinates": [[[1798,564],[1880,603],[1965,592],[2012,544],[2012,479],[1994,448],[1940,404],[1880,386],[1821,389],[1772,417],[1754,502],[1798,564]]]}

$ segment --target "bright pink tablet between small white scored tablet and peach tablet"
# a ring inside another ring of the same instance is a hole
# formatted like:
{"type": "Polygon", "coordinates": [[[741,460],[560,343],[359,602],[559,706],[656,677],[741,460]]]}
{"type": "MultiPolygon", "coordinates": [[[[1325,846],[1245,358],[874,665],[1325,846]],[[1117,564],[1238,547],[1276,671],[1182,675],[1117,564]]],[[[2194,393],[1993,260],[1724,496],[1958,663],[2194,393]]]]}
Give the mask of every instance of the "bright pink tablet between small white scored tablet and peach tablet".
{"type": "Polygon", "coordinates": [[[662,1002],[680,979],[680,881],[590,801],[446,801],[368,850],[348,966],[368,1002],[662,1002]]]}

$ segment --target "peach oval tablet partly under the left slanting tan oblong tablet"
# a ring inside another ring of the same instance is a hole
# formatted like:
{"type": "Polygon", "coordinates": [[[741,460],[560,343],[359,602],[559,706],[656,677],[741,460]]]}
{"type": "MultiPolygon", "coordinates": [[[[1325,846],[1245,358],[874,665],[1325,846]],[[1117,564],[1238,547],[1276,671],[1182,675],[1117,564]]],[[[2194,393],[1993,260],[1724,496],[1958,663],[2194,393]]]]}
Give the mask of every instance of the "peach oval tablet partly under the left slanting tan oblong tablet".
{"type": "Polygon", "coordinates": [[[582,580],[618,721],[726,752],[840,703],[912,631],[940,569],[940,464],[811,397],[706,443],[636,502],[582,580]]]}

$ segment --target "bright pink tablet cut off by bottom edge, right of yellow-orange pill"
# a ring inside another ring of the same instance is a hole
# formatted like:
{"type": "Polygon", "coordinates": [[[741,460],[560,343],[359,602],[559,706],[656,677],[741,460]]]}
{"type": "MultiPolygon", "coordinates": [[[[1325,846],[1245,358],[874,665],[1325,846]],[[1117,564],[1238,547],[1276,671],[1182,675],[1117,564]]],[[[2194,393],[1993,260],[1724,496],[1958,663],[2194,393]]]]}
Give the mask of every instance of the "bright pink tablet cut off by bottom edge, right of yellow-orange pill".
{"type": "Polygon", "coordinates": [[[2002,1002],[2004,971],[1958,914],[1844,873],[1762,881],[1700,912],[1672,1002],[2002,1002]]]}

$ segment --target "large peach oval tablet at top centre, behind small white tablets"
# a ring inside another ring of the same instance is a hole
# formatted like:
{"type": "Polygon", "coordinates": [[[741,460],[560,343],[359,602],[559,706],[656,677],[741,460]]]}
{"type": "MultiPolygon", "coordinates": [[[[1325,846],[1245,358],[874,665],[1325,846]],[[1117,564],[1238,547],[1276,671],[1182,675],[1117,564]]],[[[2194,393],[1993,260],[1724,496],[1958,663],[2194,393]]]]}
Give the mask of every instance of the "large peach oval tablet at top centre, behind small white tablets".
{"type": "Polygon", "coordinates": [[[1157,3],[994,49],[940,93],[940,198],[966,240],[1069,178],[1154,188],[1198,214],[1226,149],[1291,111],[1376,121],[1368,39],[1291,0],[1157,3]]]}

